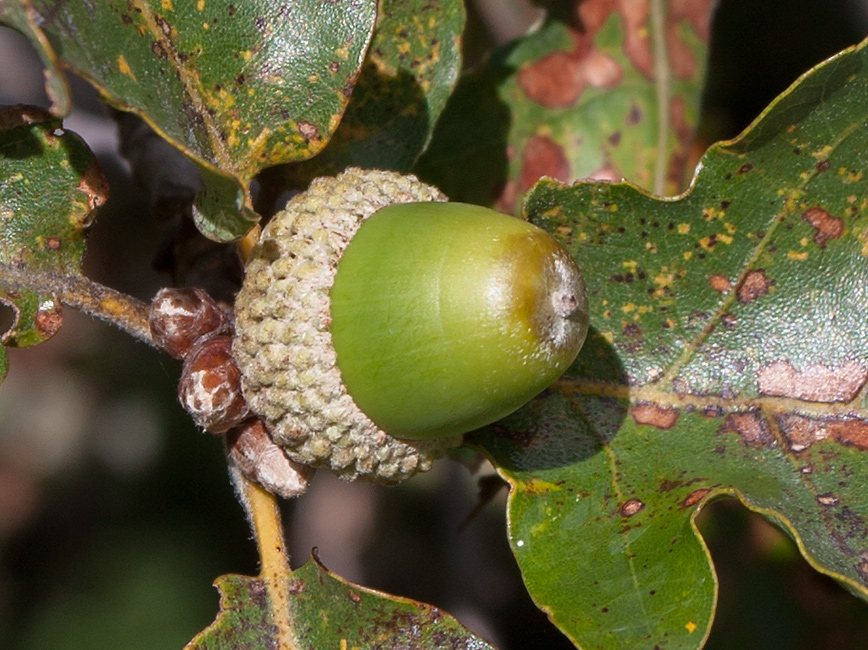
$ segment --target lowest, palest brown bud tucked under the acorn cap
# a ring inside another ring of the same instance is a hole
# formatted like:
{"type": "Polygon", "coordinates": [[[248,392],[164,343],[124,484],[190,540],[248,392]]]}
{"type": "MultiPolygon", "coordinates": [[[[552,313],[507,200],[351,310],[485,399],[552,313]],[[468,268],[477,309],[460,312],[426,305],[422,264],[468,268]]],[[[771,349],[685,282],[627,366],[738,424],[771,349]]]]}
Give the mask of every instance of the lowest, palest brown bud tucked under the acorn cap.
{"type": "Polygon", "coordinates": [[[247,478],[285,499],[303,494],[315,471],[290,460],[261,420],[248,420],[229,431],[226,445],[230,458],[247,478]]]}

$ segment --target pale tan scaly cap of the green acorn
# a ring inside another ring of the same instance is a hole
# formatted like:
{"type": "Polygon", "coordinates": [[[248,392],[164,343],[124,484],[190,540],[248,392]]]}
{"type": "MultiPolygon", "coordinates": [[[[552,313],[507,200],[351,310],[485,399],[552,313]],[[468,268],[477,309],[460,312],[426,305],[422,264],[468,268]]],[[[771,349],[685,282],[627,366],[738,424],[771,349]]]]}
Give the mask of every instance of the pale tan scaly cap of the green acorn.
{"type": "Polygon", "coordinates": [[[391,484],[460,442],[381,431],[347,393],[329,332],[329,291],[362,221],[393,203],[447,200],[414,176],[350,168],[314,180],[264,228],[236,299],[233,352],[251,410],[294,461],[391,484]]]}

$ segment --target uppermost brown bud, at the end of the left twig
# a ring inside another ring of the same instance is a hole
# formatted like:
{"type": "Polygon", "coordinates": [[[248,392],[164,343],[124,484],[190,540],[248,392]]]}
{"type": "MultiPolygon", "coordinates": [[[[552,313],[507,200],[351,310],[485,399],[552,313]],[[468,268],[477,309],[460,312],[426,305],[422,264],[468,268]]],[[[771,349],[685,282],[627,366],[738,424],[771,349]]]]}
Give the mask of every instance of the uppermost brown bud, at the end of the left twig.
{"type": "Polygon", "coordinates": [[[176,359],[183,359],[203,336],[229,329],[214,299],[194,288],[160,289],[151,302],[148,324],[154,343],[176,359]]]}

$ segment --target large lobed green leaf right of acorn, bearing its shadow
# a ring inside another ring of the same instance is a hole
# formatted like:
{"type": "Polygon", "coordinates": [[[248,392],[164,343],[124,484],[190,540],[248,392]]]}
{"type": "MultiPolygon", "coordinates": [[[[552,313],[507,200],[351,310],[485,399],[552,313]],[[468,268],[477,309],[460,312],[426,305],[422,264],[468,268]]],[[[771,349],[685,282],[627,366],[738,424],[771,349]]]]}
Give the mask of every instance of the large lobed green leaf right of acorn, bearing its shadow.
{"type": "Polygon", "coordinates": [[[868,41],[806,73],[688,192],[541,181],[591,332],[479,438],[512,485],[536,603],[579,647],[699,648],[717,581],[695,517],[734,496],[868,597],[868,41]]]}

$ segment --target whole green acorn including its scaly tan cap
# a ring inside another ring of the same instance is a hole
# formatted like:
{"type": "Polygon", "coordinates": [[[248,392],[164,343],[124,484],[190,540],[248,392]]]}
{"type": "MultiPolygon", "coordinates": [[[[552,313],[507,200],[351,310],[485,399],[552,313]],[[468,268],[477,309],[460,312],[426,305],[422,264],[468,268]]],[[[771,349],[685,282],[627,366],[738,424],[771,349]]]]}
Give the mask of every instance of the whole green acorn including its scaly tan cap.
{"type": "Polygon", "coordinates": [[[244,396],[287,455],[391,484],[557,379],[588,305],[545,231],[351,168],[263,229],[235,318],[244,396]]]}

